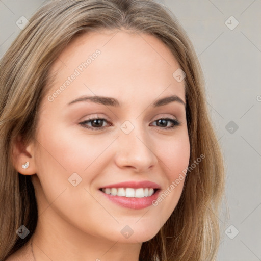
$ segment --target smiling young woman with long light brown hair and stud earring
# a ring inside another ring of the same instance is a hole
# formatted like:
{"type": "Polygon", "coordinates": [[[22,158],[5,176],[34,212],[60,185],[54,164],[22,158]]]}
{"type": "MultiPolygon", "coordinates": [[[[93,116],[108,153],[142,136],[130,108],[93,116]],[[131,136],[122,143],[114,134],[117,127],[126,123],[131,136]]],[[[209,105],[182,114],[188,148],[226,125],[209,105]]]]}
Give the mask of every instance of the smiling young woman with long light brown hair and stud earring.
{"type": "Polygon", "coordinates": [[[223,160],[171,12],[52,1],[0,69],[1,260],[215,260],[223,160]]]}

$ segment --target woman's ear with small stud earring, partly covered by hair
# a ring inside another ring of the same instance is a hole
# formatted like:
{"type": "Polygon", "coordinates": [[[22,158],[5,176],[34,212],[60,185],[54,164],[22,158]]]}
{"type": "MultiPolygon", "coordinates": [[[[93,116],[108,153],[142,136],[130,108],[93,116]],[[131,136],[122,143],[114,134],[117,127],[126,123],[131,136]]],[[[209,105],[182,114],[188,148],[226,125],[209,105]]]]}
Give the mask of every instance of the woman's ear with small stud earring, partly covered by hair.
{"type": "Polygon", "coordinates": [[[36,173],[35,158],[34,158],[35,145],[33,142],[25,145],[21,136],[18,136],[12,145],[13,165],[15,169],[23,175],[33,175],[36,173]],[[22,165],[29,162],[28,168],[22,168],[22,165]]]}

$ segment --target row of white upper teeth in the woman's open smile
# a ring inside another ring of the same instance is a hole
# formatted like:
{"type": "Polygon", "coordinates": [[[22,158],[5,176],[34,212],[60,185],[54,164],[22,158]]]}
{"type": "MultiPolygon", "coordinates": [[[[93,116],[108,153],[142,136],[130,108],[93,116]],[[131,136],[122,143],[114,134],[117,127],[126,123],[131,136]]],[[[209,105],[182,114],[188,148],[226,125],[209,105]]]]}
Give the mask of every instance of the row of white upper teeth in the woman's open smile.
{"type": "Polygon", "coordinates": [[[152,188],[102,188],[102,192],[111,194],[112,196],[127,197],[127,198],[144,198],[150,197],[154,193],[152,188]]]}

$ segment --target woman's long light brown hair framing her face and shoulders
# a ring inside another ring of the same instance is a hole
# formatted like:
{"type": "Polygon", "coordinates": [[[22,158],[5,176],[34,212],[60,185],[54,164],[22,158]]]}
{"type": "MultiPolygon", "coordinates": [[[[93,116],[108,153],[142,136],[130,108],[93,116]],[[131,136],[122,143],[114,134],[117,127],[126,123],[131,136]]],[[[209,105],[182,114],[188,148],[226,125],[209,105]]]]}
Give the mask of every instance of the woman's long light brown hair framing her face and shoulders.
{"type": "Polygon", "coordinates": [[[175,16],[152,0],[54,0],[30,19],[0,63],[0,259],[22,247],[37,225],[37,202],[31,176],[12,164],[12,142],[21,135],[33,139],[39,104],[50,67],[76,36],[90,30],[126,29],[159,38],[186,73],[187,124],[191,166],[175,210],[160,231],[141,247],[139,260],[215,260],[220,244],[219,216],[224,196],[225,168],[207,111],[203,75],[195,50],[175,16]],[[21,240],[16,230],[30,234],[21,240]]]}

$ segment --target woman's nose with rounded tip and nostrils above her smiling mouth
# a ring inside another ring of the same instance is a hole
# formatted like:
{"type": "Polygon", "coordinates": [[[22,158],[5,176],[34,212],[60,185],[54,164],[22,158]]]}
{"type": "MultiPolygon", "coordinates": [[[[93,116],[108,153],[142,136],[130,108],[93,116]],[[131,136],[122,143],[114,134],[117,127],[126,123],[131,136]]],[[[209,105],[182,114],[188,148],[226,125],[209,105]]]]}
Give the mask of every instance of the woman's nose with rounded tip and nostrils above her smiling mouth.
{"type": "Polygon", "coordinates": [[[146,172],[158,163],[155,147],[148,134],[135,126],[129,134],[121,132],[115,163],[119,168],[133,168],[136,172],[146,172]]]}

